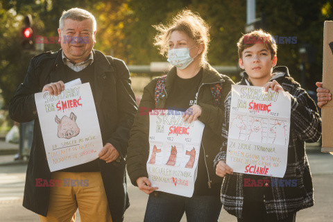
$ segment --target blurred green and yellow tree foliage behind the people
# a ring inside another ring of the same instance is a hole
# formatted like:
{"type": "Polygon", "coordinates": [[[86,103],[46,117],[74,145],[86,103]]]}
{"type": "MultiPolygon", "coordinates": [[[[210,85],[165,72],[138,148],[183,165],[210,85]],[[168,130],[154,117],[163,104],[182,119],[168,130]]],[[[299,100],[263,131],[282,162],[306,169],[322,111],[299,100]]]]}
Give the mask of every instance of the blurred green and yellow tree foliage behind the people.
{"type": "MultiPolygon", "coordinates": [[[[272,35],[297,36],[297,44],[278,45],[278,65],[287,65],[300,81],[299,49],[314,46],[314,62],[307,63],[306,89],[314,90],[321,80],[323,22],[332,19],[333,2],[328,0],[257,0],[257,17],[272,35]]],[[[173,15],[188,8],[210,24],[212,42],[208,59],[212,65],[237,65],[236,42],[246,24],[246,0],[0,0],[0,89],[5,108],[17,85],[22,83],[32,55],[22,51],[22,19],[33,16],[34,35],[57,36],[63,10],[84,8],[97,20],[95,49],[121,58],[128,65],[148,65],[165,61],[153,46],[154,24],[166,24],[173,15]]],[[[45,51],[57,51],[60,44],[45,44],[45,51]]]]}

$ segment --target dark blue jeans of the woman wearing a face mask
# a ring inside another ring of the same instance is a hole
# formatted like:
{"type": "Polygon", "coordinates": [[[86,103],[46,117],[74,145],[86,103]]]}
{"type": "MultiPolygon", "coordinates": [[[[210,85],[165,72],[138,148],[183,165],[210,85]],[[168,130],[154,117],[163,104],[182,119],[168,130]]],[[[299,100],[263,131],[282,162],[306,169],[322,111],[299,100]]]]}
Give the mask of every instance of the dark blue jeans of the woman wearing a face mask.
{"type": "Polygon", "coordinates": [[[219,196],[187,198],[154,191],[149,194],[144,222],[178,222],[184,212],[188,222],[217,222],[221,207],[219,196]]]}

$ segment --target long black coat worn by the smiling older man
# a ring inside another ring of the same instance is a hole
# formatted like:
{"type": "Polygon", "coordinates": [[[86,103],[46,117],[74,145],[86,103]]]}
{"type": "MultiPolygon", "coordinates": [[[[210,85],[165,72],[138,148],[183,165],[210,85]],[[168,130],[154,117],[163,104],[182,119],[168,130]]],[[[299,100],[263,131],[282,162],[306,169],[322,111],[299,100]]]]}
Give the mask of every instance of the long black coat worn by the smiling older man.
{"type": "MultiPolygon", "coordinates": [[[[106,164],[99,160],[112,221],[122,221],[129,206],[126,189],[125,157],[129,131],[133,124],[137,105],[130,86],[130,74],[122,60],[94,53],[94,102],[103,144],[112,144],[121,155],[121,162],[106,164]]],[[[42,53],[31,60],[24,83],[19,85],[10,101],[10,117],[20,123],[35,120],[33,145],[26,171],[23,205],[28,210],[46,216],[49,206],[49,187],[35,187],[35,179],[50,180],[51,173],[46,160],[40,121],[36,113],[36,92],[44,85],[65,80],[62,51],[42,53]]]]}

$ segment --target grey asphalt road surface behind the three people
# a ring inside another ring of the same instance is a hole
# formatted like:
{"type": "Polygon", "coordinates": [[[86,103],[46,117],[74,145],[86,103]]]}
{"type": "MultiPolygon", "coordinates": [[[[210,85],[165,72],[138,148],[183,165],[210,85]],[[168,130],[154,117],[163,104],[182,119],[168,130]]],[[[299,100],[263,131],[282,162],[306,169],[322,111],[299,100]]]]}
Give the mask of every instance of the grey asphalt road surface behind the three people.
{"type": "MultiPolygon", "coordinates": [[[[333,222],[333,155],[319,153],[318,149],[314,149],[308,157],[314,180],[315,205],[298,212],[296,221],[333,222]]],[[[0,156],[0,164],[11,158],[12,155],[0,156]]],[[[39,221],[36,214],[22,207],[25,176],[26,164],[0,166],[0,221],[39,221]]],[[[148,195],[130,183],[128,183],[128,193],[130,208],[126,211],[124,221],[141,222],[144,219],[148,195]]],[[[186,221],[185,216],[182,221],[186,221]]],[[[237,220],[222,210],[219,221],[237,220]]]]}

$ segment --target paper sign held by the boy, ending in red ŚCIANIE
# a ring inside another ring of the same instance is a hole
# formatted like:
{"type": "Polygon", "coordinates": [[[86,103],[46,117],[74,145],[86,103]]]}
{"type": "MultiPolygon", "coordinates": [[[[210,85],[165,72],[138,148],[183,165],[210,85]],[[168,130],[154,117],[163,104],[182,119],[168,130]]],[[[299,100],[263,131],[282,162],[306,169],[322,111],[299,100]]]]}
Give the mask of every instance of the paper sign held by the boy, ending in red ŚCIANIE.
{"type": "Polygon", "coordinates": [[[289,92],[232,85],[226,163],[236,173],[282,178],[287,169],[289,92]]]}

